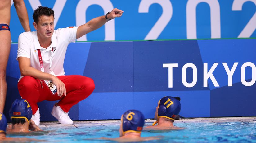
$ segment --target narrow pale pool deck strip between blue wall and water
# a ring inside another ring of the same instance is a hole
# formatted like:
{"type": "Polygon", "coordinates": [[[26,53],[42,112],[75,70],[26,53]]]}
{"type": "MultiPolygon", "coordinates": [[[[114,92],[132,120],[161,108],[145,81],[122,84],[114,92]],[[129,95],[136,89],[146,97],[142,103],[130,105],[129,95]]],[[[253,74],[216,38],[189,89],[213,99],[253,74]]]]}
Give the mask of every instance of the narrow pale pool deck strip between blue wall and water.
{"type": "MultiPolygon", "coordinates": [[[[146,120],[145,123],[153,123],[155,120],[146,120]]],[[[246,122],[256,123],[256,117],[222,117],[222,118],[193,118],[175,120],[174,123],[225,123],[225,122],[246,122]]],[[[120,120],[102,120],[102,121],[74,121],[70,124],[59,124],[59,122],[40,122],[39,127],[85,127],[85,126],[105,126],[105,125],[119,125],[120,120]]]]}

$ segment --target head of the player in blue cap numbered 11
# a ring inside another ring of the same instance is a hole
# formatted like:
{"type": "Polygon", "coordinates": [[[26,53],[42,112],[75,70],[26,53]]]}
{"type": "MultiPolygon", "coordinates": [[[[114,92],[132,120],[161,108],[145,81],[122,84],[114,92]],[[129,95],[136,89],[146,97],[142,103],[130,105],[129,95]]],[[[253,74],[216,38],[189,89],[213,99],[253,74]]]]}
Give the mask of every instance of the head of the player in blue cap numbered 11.
{"type": "Polygon", "coordinates": [[[168,118],[174,120],[181,110],[180,97],[166,96],[159,100],[155,111],[155,120],[168,118]]]}

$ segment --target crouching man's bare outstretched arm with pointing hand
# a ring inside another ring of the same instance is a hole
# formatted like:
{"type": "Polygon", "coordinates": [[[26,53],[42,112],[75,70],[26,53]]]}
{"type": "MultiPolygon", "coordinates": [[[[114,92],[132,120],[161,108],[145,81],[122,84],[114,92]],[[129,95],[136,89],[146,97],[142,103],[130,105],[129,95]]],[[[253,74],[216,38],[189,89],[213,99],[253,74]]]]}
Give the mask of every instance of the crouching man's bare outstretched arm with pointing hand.
{"type": "MultiPolygon", "coordinates": [[[[110,14],[107,15],[108,19],[114,19],[116,17],[121,17],[124,11],[119,10],[117,8],[113,9],[110,14]]],[[[102,25],[104,25],[106,22],[108,22],[104,16],[99,16],[97,18],[93,18],[92,20],[88,21],[87,23],[81,25],[78,27],[76,32],[76,39],[82,37],[83,35],[94,31],[98,28],[100,28],[102,25]]]]}

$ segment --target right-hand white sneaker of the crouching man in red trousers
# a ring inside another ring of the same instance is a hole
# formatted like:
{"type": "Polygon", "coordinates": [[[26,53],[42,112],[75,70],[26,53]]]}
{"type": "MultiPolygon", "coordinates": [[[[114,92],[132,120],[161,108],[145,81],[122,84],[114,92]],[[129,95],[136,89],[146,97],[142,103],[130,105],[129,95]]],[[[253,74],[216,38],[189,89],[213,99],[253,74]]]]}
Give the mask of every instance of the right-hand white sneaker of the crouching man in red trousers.
{"type": "Polygon", "coordinates": [[[52,108],[52,116],[59,120],[61,124],[73,124],[73,121],[69,118],[67,112],[64,112],[60,106],[53,106],[52,108]]]}

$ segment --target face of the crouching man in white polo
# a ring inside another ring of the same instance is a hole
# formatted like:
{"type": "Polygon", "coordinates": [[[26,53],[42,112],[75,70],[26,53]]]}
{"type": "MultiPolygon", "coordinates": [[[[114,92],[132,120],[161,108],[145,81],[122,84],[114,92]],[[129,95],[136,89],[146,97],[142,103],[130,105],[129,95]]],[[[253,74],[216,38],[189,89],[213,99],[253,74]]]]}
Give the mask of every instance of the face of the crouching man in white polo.
{"type": "Polygon", "coordinates": [[[54,31],[54,18],[52,15],[42,15],[38,18],[38,23],[34,22],[33,25],[37,30],[38,39],[51,39],[54,31]]]}

